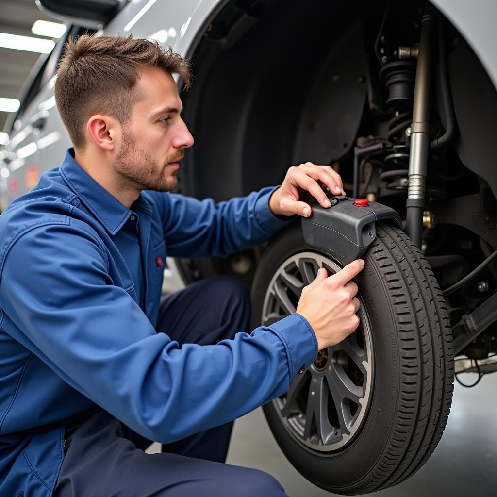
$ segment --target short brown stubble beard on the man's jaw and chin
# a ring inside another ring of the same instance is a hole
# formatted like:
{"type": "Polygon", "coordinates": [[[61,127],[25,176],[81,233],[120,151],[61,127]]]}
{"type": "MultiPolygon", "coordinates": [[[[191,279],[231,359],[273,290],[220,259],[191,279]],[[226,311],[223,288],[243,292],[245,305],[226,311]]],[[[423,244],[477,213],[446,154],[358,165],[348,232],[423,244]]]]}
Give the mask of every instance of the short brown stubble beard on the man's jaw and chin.
{"type": "Polygon", "coordinates": [[[169,163],[183,157],[183,152],[167,157],[161,164],[148,152],[139,149],[135,140],[127,131],[123,132],[123,142],[119,154],[114,159],[112,166],[121,176],[122,186],[133,186],[139,190],[170,191],[176,187],[178,180],[176,170],[171,176],[165,175],[169,163]]]}

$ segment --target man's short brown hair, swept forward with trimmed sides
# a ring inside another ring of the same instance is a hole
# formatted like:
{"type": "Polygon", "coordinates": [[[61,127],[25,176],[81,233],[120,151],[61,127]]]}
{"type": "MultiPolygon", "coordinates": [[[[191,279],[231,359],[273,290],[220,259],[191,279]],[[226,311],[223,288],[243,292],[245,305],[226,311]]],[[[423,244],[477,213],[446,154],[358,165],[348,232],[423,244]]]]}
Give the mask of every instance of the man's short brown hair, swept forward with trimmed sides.
{"type": "Polygon", "coordinates": [[[55,101],[75,148],[85,148],[84,126],[95,113],[109,114],[123,126],[131,121],[131,107],[140,70],[161,68],[191,84],[188,63],[171,48],[131,35],[69,39],[59,62],[55,101]]]}

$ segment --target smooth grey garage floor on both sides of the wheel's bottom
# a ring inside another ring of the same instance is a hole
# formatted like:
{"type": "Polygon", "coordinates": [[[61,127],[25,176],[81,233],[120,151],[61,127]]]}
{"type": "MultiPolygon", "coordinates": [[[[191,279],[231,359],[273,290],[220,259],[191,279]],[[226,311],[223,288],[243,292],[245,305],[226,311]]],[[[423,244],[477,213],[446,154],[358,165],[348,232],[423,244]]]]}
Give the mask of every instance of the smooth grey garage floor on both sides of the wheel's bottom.
{"type": "MultiPolygon", "coordinates": [[[[460,379],[472,383],[476,377],[460,379]]],[[[440,444],[411,479],[375,497],[497,496],[497,372],[474,388],[456,383],[452,410],[440,444]]],[[[228,453],[230,464],[258,468],[273,475],[290,497],[334,496],[307,480],[288,463],[260,409],[235,422],[228,453]]]]}

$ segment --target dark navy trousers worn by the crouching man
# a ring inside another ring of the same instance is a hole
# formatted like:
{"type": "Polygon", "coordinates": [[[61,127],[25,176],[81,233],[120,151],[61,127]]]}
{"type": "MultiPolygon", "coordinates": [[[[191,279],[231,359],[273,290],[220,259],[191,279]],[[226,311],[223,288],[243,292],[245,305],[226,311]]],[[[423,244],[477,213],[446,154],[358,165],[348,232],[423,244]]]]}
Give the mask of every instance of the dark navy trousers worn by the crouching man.
{"type": "MultiPolygon", "coordinates": [[[[157,331],[180,344],[214,344],[249,331],[249,314],[248,290],[217,276],[163,297],[157,331]]],[[[267,473],[224,464],[232,428],[226,423],[146,454],[151,440],[100,410],[67,438],[54,497],[286,496],[267,473]]]]}

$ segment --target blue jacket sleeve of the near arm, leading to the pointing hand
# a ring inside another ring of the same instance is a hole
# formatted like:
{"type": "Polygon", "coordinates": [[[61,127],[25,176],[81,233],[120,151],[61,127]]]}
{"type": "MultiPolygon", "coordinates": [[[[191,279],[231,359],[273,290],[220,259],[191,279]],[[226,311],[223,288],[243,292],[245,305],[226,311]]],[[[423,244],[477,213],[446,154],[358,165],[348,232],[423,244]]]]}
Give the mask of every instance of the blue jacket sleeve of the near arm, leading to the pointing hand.
{"type": "Polygon", "coordinates": [[[179,347],[114,285],[105,249],[72,222],[34,228],[10,248],[1,327],[143,436],[165,443],[235,419],[281,395],[315,359],[315,334],[298,314],[179,347]]]}

